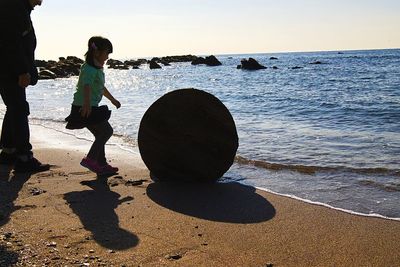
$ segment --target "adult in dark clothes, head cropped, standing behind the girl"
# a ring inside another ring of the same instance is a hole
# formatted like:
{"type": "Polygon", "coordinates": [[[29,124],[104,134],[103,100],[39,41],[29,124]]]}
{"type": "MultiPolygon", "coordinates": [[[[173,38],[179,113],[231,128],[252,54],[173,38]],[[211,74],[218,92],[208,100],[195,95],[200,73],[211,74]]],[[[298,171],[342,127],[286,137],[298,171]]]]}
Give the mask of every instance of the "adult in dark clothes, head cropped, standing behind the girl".
{"type": "Polygon", "coordinates": [[[0,94],[6,105],[0,145],[0,163],[15,172],[40,172],[50,168],[33,157],[26,88],[35,85],[36,36],[31,11],[42,0],[0,0],[0,94]]]}

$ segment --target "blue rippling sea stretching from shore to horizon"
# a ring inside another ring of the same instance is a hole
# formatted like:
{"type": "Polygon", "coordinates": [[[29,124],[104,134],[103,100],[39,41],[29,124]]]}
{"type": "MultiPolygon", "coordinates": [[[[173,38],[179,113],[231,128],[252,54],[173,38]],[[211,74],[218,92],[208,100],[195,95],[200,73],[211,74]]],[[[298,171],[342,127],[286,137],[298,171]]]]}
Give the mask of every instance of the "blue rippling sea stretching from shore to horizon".
{"type": "MultiPolygon", "coordinates": [[[[239,182],[341,211],[400,221],[400,49],[216,55],[222,65],[105,69],[110,141],[139,153],[143,114],[165,93],[196,88],[219,98],[239,135],[221,182],[239,182]],[[237,69],[252,57],[266,69],[237,69]]],[[[77,77],[27,89],[30,123],[65,129],[77,77]]],[[[5,107],[0,105],[3,116],[5,107]]]]}

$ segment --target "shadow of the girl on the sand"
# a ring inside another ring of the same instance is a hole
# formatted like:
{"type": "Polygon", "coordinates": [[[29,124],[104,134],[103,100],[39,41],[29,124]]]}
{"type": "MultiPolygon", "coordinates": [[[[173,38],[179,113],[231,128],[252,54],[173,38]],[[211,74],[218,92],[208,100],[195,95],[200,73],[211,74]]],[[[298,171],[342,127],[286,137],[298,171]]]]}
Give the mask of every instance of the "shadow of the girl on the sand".
{"type": "Polygon", "coordinates": [[[81,184],[93,190],[70,192],[64,195],[64,199],[79,216],[83,227],[92,232],[93,239],[101,246],[113,250],[125,250],[136,246],[138,237],[120,228],[115,213],[119,204],[133,198],[119,199],[120,195],[110,190],[107,177],[83,181],[81,184]]]}

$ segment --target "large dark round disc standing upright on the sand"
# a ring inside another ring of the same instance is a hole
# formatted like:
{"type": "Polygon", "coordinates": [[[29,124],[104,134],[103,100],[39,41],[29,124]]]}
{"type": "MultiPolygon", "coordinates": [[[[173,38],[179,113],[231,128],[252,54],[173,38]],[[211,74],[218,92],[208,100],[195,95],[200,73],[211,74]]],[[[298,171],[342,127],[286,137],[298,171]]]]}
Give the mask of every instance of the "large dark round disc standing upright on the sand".
{"type": "Polygon", "coordinates": [[[165,94],[144,114],[140,155],[160,181],[215,181],[230,168],[239,145],[235,122],[212,94],[180,89],[165,94]]]}

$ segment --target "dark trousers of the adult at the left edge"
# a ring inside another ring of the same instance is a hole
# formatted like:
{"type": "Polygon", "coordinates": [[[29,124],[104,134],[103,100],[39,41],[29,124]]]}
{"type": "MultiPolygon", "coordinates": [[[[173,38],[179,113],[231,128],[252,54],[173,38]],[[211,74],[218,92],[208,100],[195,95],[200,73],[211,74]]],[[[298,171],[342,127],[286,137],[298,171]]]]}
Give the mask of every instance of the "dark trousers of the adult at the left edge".
{"type": "Polygon", "coordinates": [[[15,148],[19,155],[31,155],[29,103],[26,101],[25,88],[17,83],[0,81],[0,94],[7,108],[1,128],[1,147],[15,148]]]}

